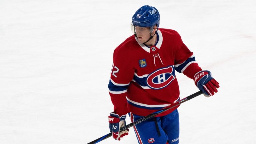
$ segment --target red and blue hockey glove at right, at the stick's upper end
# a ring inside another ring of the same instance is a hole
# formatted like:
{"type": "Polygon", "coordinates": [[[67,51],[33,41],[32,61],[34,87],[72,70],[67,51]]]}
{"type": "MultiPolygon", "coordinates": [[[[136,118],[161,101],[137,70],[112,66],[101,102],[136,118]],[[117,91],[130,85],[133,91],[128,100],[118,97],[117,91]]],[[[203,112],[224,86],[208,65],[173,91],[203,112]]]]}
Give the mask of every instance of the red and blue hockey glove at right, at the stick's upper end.
{"type": "Polygon", "coordinates": [[[219,83],[211,77],[210,71],[200,71],[195,74],[194,82],[195,85],[201,90],[206,97],[213,96],[214,92],[218,92],[217,88],[219,88],[219,83]]]}

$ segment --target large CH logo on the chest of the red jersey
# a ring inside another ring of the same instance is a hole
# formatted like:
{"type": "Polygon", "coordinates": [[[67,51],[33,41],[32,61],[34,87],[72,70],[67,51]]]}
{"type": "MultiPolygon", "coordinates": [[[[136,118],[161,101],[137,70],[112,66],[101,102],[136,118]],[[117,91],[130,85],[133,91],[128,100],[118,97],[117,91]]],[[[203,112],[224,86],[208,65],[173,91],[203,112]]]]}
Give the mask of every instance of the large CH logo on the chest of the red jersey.
{"type": "Polygon", "coordinates": [[[152,89],[161,89],[169,85],[174,79],[172,66],[161,68],[147,77],[147,84],[152,89]]]}

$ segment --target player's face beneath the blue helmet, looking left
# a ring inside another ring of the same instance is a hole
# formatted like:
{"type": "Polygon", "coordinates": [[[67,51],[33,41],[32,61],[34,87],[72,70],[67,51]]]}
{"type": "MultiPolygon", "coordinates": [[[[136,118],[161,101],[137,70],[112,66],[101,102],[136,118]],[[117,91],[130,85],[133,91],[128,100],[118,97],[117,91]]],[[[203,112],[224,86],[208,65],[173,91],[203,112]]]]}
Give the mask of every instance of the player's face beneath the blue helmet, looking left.
{"type": "Polygon", "coordinates": [[[150,29],[150,27],[138,27],[138,26],[135,26],[135,32],[137,34],[138,41],[140,43],[146,42],[150,38],[150,36],[151,36],[151,29],[150,29]]]}

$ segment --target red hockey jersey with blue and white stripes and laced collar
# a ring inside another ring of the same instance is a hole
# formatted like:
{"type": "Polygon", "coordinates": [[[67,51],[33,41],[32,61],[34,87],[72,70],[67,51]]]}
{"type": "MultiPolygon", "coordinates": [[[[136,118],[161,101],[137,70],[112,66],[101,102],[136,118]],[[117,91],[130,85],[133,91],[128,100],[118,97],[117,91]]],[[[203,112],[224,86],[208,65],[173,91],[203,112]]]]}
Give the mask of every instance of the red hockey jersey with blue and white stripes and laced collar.
{"type": "Polygon", "coordinates": [[[150,48],[133,35],[114,50],[108,88],[116,114],[146,116],[173,104],[179,100],[175,71],[193,79],[202,70],[176,31],[159,28],[156,34],[150,48]]]}

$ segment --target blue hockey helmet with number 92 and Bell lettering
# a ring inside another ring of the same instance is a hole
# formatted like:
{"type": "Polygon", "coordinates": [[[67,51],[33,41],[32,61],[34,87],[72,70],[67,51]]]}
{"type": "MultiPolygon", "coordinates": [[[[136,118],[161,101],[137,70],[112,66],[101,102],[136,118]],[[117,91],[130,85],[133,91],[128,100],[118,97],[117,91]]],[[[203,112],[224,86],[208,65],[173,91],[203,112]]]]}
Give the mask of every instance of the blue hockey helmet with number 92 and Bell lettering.
{"type": "Polygon", "coordinates": [[[142,6],[132,17],[132,25],[139,27],[159,27],[160,14],[155,7],[142,6]]]}

